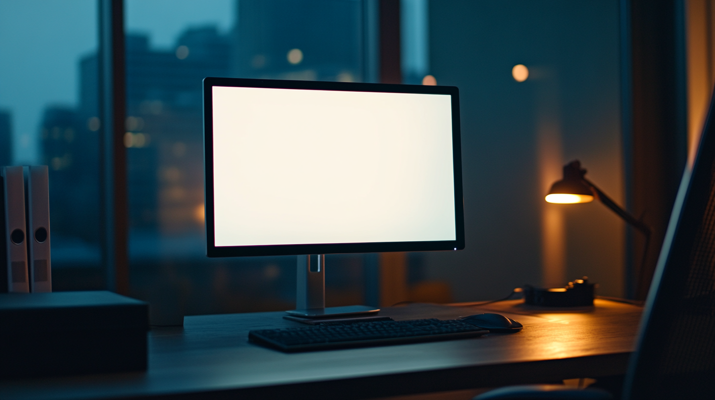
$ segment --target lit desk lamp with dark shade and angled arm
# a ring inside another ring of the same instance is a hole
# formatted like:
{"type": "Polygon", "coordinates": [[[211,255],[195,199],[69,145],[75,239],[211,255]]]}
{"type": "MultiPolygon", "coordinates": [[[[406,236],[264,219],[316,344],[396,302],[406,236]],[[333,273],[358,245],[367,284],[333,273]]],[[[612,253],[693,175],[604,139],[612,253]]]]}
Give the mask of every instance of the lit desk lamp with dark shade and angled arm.
{"type": "Polygon", "coordinates": [[[586,169],[581,168],[580,161],[571,161],[566,164],[563,166],[563,179],[556,181],[556,183],[551,186],[551,190],[549,190],[546,195],[546,201],[558,204],[576,204],[591,202],[595,197],[600,200],[603,205],[611,209],[611,211],[618,214],[623,221],[626,221],[638,229],[638,231],[641,231],[641,233],[646,236],[646,245],[644,246],[643,257],[641,258],[641,270],[638,271],[638,274],[642,274],[651,239],[651,229],[644,224],[643,221],[636,219],[636,217],[629,214],[628,211],[618,206],[618,204],[606,196],[601,189],[598,189],[598,186],[586,179],[585,175],[586,169]]]}

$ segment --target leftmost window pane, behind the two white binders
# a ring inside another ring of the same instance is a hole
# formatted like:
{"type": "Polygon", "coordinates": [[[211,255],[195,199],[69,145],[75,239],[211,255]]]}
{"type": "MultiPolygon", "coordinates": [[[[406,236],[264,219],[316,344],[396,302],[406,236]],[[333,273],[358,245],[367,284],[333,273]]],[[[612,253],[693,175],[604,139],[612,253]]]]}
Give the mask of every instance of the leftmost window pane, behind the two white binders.
{"type": "Polygon", "coordinates": [[[0,2],[0,165],[49,166],[54,290],[104,288],[96,49],[97,1],[0,2]]]}

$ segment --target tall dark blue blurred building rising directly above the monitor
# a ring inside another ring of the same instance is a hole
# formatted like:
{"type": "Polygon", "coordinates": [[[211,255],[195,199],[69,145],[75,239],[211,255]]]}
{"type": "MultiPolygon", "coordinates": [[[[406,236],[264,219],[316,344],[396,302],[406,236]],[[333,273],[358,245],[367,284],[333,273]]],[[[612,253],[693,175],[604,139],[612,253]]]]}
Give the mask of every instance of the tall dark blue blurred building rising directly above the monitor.
{"type": "Polygon", "coordinates": [[[364,81],[360,1],[238,1],[233,67],[242,78],[364,81]]]}

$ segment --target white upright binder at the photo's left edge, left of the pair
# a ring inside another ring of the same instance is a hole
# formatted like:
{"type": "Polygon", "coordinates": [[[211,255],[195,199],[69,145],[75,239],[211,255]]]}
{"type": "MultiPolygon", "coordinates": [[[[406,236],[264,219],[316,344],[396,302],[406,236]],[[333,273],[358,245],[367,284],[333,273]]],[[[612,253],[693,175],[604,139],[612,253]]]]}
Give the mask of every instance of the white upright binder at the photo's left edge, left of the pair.
{"type": "Polygon", "coordinates": [[[0,291],[27,293],[27,241],[25,230],[25,189],[21,166],[6,166],[2,169],[4,202],[3,233],[4,257],[2,264],[6,284],[0,291]]]}

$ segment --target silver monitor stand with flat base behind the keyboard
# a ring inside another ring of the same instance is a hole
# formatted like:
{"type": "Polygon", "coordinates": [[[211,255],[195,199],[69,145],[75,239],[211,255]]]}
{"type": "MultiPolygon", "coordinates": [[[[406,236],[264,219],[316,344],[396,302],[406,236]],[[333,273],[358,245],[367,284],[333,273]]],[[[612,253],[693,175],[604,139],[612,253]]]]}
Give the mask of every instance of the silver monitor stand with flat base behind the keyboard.
{"type": "Polygon", "coordinates": [[[375,316],[380,309],[370,306],[325,307],[325,254],[297,256],[295,310],[285,311],[305,319],[375,316]]]}

